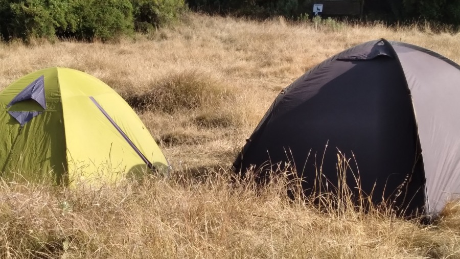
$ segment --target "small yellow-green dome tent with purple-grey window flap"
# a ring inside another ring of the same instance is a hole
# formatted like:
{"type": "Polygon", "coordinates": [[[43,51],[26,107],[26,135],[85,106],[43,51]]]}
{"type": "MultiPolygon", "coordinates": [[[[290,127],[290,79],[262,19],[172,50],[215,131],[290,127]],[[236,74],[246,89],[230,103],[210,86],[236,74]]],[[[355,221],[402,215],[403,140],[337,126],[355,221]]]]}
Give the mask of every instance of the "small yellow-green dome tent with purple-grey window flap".
{"type": "Polygon", "coordinates": [[[99,79],[51,67],[0,93],[0,176],[69,184],[124,178],[168,161],[131,107],[99,79]]]}

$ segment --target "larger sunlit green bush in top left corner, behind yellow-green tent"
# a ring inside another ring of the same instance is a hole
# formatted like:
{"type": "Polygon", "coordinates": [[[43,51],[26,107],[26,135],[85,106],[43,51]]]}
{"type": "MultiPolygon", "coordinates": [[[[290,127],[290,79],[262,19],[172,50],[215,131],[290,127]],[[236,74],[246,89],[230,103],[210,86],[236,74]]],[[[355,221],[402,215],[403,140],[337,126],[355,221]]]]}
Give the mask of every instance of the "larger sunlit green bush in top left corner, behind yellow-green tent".
{"type": "Polygon", "coordinates": [[[129,0],[0,0],[0,34],[18,37],[112,39],[133,31],[129,0]]]}

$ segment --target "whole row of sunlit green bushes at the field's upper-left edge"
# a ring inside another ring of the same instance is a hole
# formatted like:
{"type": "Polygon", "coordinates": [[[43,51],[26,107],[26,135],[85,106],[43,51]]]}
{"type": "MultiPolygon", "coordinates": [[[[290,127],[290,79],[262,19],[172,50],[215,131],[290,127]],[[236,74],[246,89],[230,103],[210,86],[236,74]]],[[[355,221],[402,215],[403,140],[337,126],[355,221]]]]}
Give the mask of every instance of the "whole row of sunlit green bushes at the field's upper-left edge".
{"type": "Polygon", "coordinates": [[[109,40],[177,19],[183,0],[0,0],[0,38],[109,40]]]}

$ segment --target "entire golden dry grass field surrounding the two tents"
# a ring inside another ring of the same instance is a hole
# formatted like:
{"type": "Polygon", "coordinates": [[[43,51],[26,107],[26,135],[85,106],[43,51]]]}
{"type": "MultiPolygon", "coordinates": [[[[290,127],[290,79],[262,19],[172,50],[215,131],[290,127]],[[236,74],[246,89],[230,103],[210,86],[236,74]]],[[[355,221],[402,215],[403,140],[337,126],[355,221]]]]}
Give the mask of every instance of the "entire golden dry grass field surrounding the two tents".
{"type": "Polygon", "coordinates": [[[258,193],[228,184],[244,139],[282,88],[382,37],[460,63],[460,34],[428,26],[200,14],[113,43],[0,43],[0,89],[45,67],[83,70],[135,108],[175,169],[170,179],[99,189],[0,183],[0,258],[460,258],[454,201],[424,226],[385,211],[320,213],[290,201],[282,183],[258,193]]]}

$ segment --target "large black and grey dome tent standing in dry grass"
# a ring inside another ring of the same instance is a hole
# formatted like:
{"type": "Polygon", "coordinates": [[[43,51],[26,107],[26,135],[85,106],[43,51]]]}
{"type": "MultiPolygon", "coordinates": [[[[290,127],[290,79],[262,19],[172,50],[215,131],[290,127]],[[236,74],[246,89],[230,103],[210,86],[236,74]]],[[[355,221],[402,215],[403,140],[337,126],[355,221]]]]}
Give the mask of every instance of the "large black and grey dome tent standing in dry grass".
{"type": "Polygon", "coordinates": [[[373,203],[393,201],[406,216],[442,209],[460,192],[460,66],[384,39],[343,51],[279,94],[234,169],[263,178],[290,162],[311,194],[321,162],[319,178],[337,186],[337,150],[355,156],[373,203]]]}

